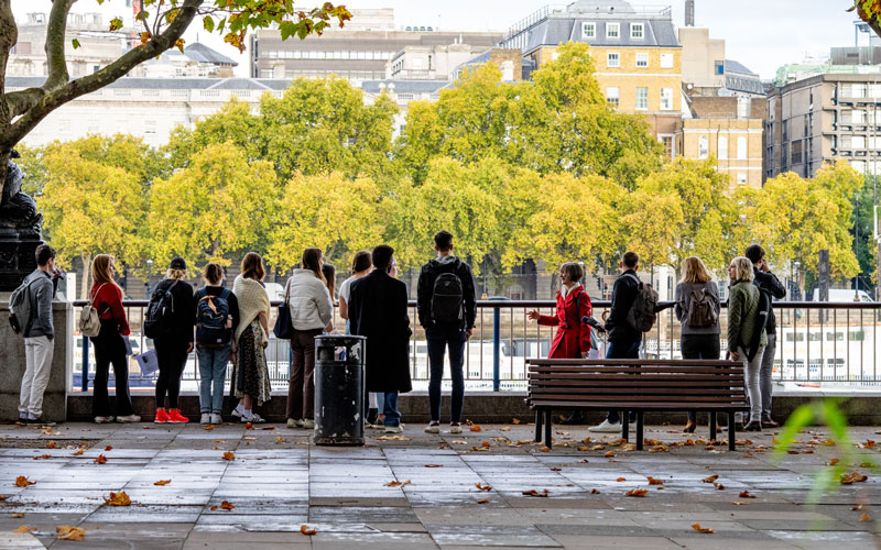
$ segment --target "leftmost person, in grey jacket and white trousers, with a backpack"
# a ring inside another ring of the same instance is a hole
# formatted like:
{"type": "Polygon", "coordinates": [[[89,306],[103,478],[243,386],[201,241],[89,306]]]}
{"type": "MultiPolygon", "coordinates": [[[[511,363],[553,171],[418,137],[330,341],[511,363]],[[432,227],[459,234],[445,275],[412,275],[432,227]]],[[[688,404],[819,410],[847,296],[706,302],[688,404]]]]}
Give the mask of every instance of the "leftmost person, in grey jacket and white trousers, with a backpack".
{"type": "Polygon", "coordinates": [[[55,268],[55,249],[48,244],[36,248],[36,270],[24,279],[25,299],[30,316],[22,319],[24,337],[24,376],[19,397],[20,426],[42,424],[55,426],[43,418],[43,394],[52,373],[55,348],[55,326],[52,322],[52,300],[58,289],[61,272],[55,268]]]}

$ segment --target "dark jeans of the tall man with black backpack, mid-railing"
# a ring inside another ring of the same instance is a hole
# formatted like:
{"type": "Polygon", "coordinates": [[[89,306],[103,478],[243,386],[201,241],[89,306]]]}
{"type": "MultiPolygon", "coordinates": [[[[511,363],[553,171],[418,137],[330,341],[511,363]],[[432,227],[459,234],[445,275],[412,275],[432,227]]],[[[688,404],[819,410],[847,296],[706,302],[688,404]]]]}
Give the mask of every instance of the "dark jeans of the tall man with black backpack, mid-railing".
{"type": "Polygon", "coordinates": [[[428,341],[428,363],[432,369],[432,380],[428,383],[432,421],[440,420],[440,382],[444,378],[444,352],[449,348],[449,375],[453,378],[449,421],[459,422],[461,421],[461,407],[465,400],[463,365],[465,363],[467,334],[464,330],[426,330],[425,339],[428,341]]]}

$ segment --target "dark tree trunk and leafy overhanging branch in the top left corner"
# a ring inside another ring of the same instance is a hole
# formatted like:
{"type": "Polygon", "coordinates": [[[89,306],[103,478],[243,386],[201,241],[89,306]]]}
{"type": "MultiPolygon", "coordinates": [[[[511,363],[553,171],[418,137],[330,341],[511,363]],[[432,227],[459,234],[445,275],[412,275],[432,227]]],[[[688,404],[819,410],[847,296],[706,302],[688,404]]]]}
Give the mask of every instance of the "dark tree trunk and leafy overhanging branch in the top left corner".
{"type": "MultiPolygon", "coordinates": [[[[102,3],[104,0],[97,0],[102,3]]],[[[7,162],[12,147],[33,130],[50,112],[85,94],[100,89],[123,77],[138,64],[172,47],[183,51],[181,37],[189,24],[203,18],[207,32],[224,35],[224,41],[244,51],[249,30],[278,25],[282,38],[312,33],[322,34],[336,19],[342,26],[351,18],[344,7],[326,2],[308,12],[294,8],[291,0],[138,0],[141,44],[106,67],[70,80],[65,59],[67,14],[76,0],[54,0],[46,23],[46,63],[48,76],[42,86],[6,91],[6,67],[18,41],[12,14],[12,0],[0,0],[0,195],[6,182],[7,162]],[[152,13],[151,13],[152,11],[152,13]]],[[[110,31],[122,29],[122,21],[110,22],[110,31]]],[[[79,47],[74,38],[73,47],[79,47]]]]}

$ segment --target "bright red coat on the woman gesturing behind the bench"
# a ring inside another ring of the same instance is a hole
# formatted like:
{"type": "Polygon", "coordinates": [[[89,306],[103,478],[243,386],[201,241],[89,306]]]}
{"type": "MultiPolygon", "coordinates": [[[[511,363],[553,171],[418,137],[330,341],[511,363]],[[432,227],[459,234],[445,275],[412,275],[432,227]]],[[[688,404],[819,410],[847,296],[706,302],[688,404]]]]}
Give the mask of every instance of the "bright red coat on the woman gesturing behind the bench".
{"type": "Polygon", "coordinates": [[[573,289],[565,300],[557,292],[556,315],[539,318],[539,324],[557,327],[548,359],[581,359],[581,353],[590,351],[590,327],[581,322],[581,318],[590,316],[592,309],[583,286],[573,289]]]}

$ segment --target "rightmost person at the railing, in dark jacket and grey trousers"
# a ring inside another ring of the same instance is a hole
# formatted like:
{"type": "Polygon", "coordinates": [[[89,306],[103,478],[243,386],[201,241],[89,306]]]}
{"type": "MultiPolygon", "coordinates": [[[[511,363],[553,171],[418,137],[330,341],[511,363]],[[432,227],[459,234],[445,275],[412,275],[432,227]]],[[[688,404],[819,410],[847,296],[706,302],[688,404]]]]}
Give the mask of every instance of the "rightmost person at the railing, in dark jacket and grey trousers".
{"type": "MultiPolygon", "coordinates": [[[[743,255],[752,262],[752,273],[755,276],[753,284],[768,297],[768,302],[770,304],[774,298],[779,300],[785,298],[786,287],[768,268],[764,249],[759,244],[751,244],[747,246],[743,255]]],[[[856,296],[855,299],[859,300],[859,296],[856,296]]],[[[777,343],[777,320],[773,307],[768,311],[765,333],[768,334],[768,345],[762,353],[762,366],[759,370],[759,386],[762,392],[762,428],[776,428],[780,424],[771,418],[771,402],[774,392],[774,353],[777,343]]]]}

